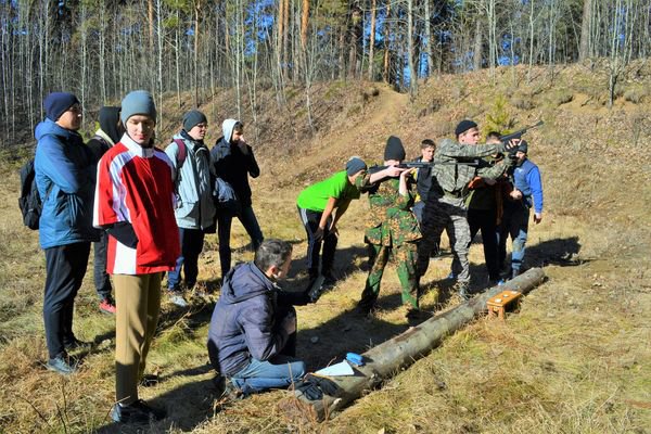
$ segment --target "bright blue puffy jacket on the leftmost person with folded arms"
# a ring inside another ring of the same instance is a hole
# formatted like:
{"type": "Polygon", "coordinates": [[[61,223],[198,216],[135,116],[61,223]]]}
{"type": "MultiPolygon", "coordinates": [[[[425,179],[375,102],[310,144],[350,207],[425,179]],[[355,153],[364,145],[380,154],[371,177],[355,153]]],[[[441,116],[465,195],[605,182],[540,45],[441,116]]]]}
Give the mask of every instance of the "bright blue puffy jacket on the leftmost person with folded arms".
{"type": "Polygon", "coordinates": [[[42,248],[98,241],[92,227],[97,162],[76,131],[44,119],[36,126],[36,184],[43,203],[42,248]]]}

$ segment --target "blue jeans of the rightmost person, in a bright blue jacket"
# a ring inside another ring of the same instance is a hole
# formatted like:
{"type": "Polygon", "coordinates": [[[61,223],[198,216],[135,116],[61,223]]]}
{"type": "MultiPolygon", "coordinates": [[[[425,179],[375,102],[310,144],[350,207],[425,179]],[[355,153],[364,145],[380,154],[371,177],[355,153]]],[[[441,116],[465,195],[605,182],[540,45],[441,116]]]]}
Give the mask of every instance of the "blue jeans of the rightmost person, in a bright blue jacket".
{"type": "Polygon", "coordinates": [[[505,206],[501,226],[499,228],[499,261],[503,266],[507,259],[507,239],[511,235],[511,271],[520,273],[524,260],[526,235],[528,232],[529,208],[522,203],[505,206]]]}

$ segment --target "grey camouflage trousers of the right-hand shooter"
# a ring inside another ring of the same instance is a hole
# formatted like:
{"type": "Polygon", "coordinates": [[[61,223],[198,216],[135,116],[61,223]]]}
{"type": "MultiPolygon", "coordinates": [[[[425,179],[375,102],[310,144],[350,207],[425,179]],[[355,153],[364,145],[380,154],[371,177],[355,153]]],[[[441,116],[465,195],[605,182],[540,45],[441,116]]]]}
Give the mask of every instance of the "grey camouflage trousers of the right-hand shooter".
{"type": "Polygon", "coordinates": [[[468,209],[463,199],[429,197],[423,215],[423,238],[418,245],[418,276],[424,276],[430,265],[432,248],[441,243],[441,234],[446,230],[452,251],[452,273],[460,283],[470,282],[470,263],[468,251],[470,246],[470,227],[468,226],[468,209]]]}

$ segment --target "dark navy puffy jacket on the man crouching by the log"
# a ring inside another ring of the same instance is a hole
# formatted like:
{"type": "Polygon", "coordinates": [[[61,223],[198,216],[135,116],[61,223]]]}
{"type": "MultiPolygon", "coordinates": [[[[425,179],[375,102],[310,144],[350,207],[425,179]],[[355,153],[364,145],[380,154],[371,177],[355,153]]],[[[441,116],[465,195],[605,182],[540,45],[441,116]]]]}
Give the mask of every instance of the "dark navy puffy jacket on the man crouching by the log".
{"type": "Polygon", "coordinates": [[[252,358],[268,360],[285,346],[289,335],[280,326],[278,291],[253,263],[239,265],[226,276],[208,331],[208,345],[217,348],[222,375],[237,374],[252,358]]]}

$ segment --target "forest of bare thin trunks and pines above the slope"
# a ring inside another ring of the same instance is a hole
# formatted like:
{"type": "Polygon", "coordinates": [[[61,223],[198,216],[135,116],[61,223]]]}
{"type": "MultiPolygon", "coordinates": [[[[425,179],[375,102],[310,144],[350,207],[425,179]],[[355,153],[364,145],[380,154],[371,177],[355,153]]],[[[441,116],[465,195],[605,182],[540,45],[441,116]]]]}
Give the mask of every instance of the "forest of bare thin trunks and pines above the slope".
{"type": "Polygon", "coordinates": [[[0,144],[25,139],[63,89],[90,113],[148,89],[161,120],[166,94],[199,106],[232,88],[255,125],[260,91],[282,105],[298,86],[315,132],[315,82],[383,80],[413,99],[439,74],[599,58],[612,104],[625,66],[649,54],[650,21],[648,0],[2,0],[0,144]]]}

